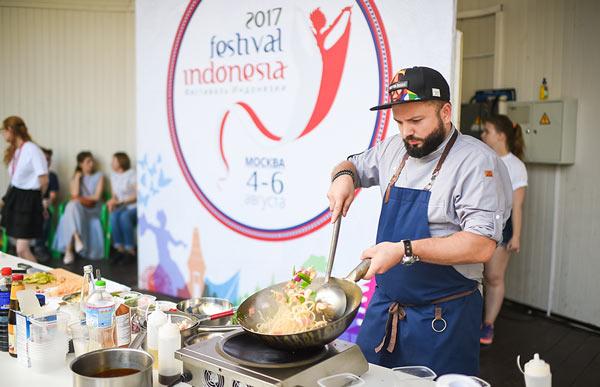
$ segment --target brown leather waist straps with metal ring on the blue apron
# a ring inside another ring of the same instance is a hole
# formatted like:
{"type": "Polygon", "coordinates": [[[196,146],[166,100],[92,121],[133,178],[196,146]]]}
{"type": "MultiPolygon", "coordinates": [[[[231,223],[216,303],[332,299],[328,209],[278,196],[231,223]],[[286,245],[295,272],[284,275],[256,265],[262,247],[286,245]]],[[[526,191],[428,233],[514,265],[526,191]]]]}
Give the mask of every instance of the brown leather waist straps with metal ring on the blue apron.
{"type": "MultiPolygon", "coordinates": [[[[477,290],[477,288],[471,289],[471,290],[465,290],[464,292],[451,294],[449,296],[438,298],[437,300],[433,300],[431,302],[431,305],[435,305],[435,316],[431,322],[432,329],[438,333],[446,330],[446,325],[447,325],[446,320],[444,320],[442,318],[442,308],[440,306],[438,306],[438,304],[469,296],[469,295],[475,293],[476,290],[477,290]],[[434,323],[436,321],[443,322],[444,325],[443,325],[442,329],[437,329],[434,326],[434,323]]],[[[398,336],[398,322],[401,320],[404,320],[406,318],[406,310],[404,308],[414,307],[414,306],[416,306],[416,305],[411,305],[411,304],[403,305],[398,302],[393,302],[390,304],[390,306],[388,308],[388,319],[385,324],[385,335],[383,336],[381,343],[379,343],[379,345],[377,347],[375,347],[376,353],[381,352],[381,350],[385,346],[386,342],[388,342],[386,351],[389,353],[394,352],[394,349],[396,348],[396,340],[397,340],[397,336],[398,336]],[[389,339],[389,341],[388,341],[388,339],[389,339]]]]}

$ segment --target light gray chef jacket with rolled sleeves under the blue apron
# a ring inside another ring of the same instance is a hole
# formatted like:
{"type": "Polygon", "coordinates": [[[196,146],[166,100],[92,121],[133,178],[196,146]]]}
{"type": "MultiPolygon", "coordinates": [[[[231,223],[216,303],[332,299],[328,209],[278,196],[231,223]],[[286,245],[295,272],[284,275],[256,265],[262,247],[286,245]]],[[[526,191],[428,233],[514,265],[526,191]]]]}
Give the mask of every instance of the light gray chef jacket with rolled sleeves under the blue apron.
{"type": "MultiPolygon", "coordinates": [[[[454,130],[453,127],[431,154],[420,159],[409,157],[395,185],[423,189],[454,130]]],[[[405,153],[402,136],[397,134],[348,160],[358,171],[360,187],[379,185],[383,196],[405,153]]],[[[431,236],[444,237],[462,230],[501,242],[511,208],[512,188],[504,163],[483,142],[459,133],[431,188],[428,208],[431,236]]],[[[454,268],[481,283],[483,264],[454,265],[454,268]]]]}

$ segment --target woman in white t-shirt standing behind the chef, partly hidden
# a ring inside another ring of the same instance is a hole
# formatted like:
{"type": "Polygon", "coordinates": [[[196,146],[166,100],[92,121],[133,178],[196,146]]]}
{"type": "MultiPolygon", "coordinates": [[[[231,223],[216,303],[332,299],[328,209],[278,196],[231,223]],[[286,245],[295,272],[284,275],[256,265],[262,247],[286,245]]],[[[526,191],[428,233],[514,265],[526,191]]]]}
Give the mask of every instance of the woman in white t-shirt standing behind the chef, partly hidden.
{"type": "Polygon", "coordinates": [[[494,322],[504,300],[504,274],[511,252],[521,249],[523,202],[527,187],[527,169],[523,161],[525,143],[518,124],[504,115],[489,117],[481,139],[489,145],[506,165],[513,189],[513,207],[492,259],[484,266],[485,316],[481,327],[481,344],[489,345],[494,338],[494,322]]]}

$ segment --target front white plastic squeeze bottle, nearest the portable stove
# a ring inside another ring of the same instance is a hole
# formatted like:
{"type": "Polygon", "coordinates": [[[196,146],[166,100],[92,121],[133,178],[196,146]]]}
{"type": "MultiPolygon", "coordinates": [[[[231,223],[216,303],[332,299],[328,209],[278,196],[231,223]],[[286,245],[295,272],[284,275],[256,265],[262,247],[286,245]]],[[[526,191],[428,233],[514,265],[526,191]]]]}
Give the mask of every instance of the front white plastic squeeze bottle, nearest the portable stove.
{"type": "Polygon", "coordinates": [[[170,385],[183,372],[181,361],[175,359],[175,351],[181,348],[179,327],[169,320],[158,329],[158,382],[170,385]]]}

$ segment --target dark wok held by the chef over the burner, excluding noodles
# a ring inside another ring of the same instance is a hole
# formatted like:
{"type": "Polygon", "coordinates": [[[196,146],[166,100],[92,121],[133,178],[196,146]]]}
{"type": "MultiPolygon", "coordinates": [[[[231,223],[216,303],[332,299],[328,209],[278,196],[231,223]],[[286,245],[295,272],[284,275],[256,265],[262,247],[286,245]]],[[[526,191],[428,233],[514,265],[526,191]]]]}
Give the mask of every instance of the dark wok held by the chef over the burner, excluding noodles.
{"type": "MultiPolygon", "coordinates": [[[[288,281],[260,290],[247,298],[237,310],[238,322],[247,333],[260,338],[265,344],[274,348],[299,350],[322,347],[341,335],[354,320],[362,301],[362,290],[356,282],[365,276],[370,265],[371,260],[365,259],[346,278],[332,277],[330,279],[330,281],[335,281],[346,294],[346,310],[342,317],[328,322],[323,327],[280,335],[257,332],[256,325],[263,322],[263,316],[272,315],[279,308],[279,304],[273,297],[273,291],[281,292],[288,281]]],[[[318,289],[323,281],[324,278],[316,278],[311,284],[311,288],[314,286],[315,289],[318,289]]]]}

